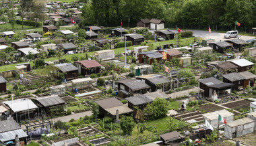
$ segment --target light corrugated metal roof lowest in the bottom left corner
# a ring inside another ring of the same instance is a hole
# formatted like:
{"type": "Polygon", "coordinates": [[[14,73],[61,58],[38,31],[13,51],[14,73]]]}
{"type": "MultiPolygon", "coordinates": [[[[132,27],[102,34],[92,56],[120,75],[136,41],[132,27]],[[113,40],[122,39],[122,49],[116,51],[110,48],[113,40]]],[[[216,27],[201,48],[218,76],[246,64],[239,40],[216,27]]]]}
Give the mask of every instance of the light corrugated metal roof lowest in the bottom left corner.
{"type": "Polygon", "coordinates": [[[14,140],[16,135],[18,135],[19,138],[28,137],[28,135],[22,129],[18,129],[5,133],[0,133],[0,141],[5,142],[14,140]]]}

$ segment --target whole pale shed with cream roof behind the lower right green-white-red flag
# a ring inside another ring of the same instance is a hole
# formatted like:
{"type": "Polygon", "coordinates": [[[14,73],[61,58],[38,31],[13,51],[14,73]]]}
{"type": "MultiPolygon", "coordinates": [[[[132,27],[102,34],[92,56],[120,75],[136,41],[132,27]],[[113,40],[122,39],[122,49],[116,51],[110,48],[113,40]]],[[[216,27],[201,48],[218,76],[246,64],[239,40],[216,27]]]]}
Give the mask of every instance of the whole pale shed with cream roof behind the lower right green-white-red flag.
{"type": "MultiPolygon", "coordinates": [[[[226,123],[231,123],[232,121],[234,121],[234,114],[226,111],[226,109],[203,114],[203,117],[210,123],[210,125],[212,125],[212,127],[217,128],[219,115],[221,115],[226,120],[226,123]]],[[[220,125],[223,124],[224,123],[220,121],[220,125]]]]}

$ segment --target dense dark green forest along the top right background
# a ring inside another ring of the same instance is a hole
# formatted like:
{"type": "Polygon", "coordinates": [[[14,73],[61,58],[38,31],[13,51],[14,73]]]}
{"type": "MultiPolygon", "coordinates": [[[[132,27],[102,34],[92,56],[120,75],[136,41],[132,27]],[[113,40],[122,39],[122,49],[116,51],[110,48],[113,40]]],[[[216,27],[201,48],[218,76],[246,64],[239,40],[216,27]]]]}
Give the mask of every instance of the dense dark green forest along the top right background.
{"type": "Polygon", "coordinates": [[[213,30],[256,27],[256,0],[84,0],[80,25],[134,27],[139,19],[156,18],[165,27],[213,30]]]}

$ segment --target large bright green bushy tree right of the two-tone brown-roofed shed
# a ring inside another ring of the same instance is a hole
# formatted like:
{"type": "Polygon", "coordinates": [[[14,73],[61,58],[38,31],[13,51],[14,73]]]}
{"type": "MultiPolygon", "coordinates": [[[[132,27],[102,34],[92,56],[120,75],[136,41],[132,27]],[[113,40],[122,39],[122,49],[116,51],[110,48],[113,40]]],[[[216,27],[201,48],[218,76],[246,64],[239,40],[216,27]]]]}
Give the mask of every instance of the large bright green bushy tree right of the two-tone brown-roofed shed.
{"type": "Polygon", "coordinates": [[[168,113],[168,101],[163,98],[156,98],[152,103],[149,103],[145,109],[148,119],[160,119],[168,113]]]}

